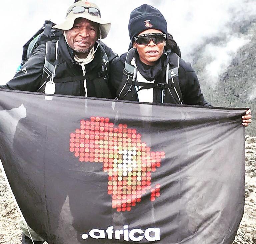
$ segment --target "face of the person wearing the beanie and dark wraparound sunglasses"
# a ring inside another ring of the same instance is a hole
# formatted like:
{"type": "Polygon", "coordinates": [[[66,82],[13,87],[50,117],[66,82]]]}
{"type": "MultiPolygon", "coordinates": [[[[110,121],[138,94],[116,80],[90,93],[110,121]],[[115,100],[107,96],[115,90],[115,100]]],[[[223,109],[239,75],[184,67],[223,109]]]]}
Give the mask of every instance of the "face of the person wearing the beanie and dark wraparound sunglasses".
{"type": "MultiPolygon", "coordinates": [[[[155,29],[148,29],[143,32],[141,32],[138,36],[144,35],[144,34],[152,34],[152,33],[160,33],[163,34],[159,30],[155,29]]],[[[133,47],[137,49],[140,61],[143,63],[154,66],[155,62],[160,59],[164,52],[164,46],[165,46],[165,41],[161,42],[159,44],[155,44],[153,40],[150,40],[148,45],[140,45],[134,42],[133,47]]]]}

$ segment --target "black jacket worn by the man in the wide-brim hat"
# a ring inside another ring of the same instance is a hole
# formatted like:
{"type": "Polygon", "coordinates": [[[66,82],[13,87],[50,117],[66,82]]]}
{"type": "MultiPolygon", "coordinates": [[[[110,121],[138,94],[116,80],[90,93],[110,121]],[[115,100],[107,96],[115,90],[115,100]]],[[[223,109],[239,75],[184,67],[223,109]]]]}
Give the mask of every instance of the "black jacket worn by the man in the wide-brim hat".
{"type": "MultiPolygon", "coordinates": [[[[95,46],[97,46],[97,43],[95,46]]],[[[46,46],[40,45],[23,65],[22,70],[5,86],[0,86],[0,88],[36,92],[45,81],[42,80],[45,51],[46,46]]],[[[60,36],[57,52],[58,56],[55,62],[56,79],[83,75],[81,65],[78,65],[74,61],[73,51],[68,47],[63,35],[60,36]]],[[[104,62],[102,57],[105,53],[110,63],[117,57],[110,48],[101,43],[95,53],[93,61],[85,65],[86,74],[95,76],[90,80],[87,79],[87,92],[89,97],[112,98],[108,87],[108,79],[104,79],[103,76],[97,77],[97,74],[102,71],[104,62]]],[[[85,95],[83,80],[56,83],[55,94],[85,95]]]]}

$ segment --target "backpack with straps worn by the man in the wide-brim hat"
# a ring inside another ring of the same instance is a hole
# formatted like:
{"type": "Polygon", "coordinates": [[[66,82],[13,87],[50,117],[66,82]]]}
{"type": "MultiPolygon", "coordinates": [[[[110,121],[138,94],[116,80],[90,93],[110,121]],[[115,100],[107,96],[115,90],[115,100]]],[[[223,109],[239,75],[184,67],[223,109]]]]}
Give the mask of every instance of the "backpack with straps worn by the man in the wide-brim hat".
{"type": "Polygon", "coordinates": [[[108,56],[101,47],[104,55],[102,57],[102,70],[100,70],[97,74],[88,74],[88,75],[79,75],[79,76],[72,76],[72,77],[65,77],[65,78],[58,78],[54,79],[55,76],[55,61],[57,59],[56,50],[58,48],[58,40],[62,34],[60,30],[54,30],[52,27],[55,24],[51,21],[45,21],[42,28],[40,28],[33,37],[29,39],[29,41],[23,46],[23,54],[21,64],[18,67],[17,72],[22,69],[22,66],[25,62],[32,56],[36,48],[41,45],[46,45],[46,53],[45,53],[45,63],[43,67],[43,75],[42,75],[42,84],[37,90],[37,92],[41,93],[49,93],[54,94],[55,91],[55,83],[62,83],[62,82],[71,82],[77,81],[82,79],[93,79],[93,78],[100,78],[104,77],[104,79],[108,79],[108,70],[109,70],[109,60],[108,56]]]}

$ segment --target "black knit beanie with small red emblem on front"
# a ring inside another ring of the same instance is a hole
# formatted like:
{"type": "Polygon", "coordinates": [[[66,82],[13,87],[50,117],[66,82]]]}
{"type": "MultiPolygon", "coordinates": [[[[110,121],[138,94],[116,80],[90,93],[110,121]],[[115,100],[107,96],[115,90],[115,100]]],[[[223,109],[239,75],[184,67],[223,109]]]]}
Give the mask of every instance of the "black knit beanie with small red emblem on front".
{"type": "Polygon", "coordinates": [[[156,29],[168,34],[167,22],[161,12],[148,4],[143,4],[130,15],[128,30],[131,42],[133,43],[134,37],[147,29],[156,29]]]}

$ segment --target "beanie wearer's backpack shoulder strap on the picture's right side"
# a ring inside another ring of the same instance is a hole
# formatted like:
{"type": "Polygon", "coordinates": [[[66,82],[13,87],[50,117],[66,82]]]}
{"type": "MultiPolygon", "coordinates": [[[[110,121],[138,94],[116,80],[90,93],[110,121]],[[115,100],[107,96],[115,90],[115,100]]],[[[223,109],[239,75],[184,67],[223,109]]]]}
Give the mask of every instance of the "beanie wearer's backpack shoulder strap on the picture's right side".
{"type": "Polygon", "coordinates": [[[179,56],[176,53],[169,54],[169,62],[166,68],[166,83],[171,84],[168,91],[176,100],[177,103],[182,104],[182,93],[179,85],[179,56]]]}

